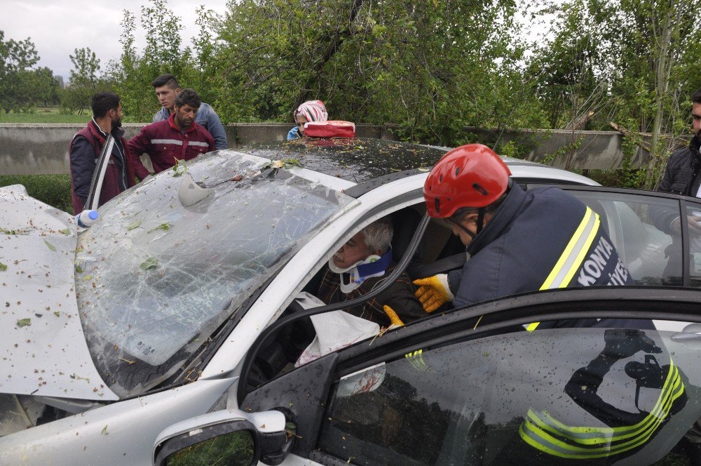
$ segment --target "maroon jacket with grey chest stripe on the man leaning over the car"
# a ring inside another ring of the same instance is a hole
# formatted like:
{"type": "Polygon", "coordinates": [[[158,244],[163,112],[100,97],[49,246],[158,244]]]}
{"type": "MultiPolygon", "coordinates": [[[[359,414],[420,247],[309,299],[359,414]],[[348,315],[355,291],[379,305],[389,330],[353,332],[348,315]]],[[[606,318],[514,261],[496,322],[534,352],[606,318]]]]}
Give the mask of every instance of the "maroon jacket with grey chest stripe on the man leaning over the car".
{"type": "Polygon", "coordinates": [[[180,131],[175,126],[174,117],[175,114],[172,114],[167,120],[144,126],[139,134],[129,140],[129,149],[136,156],[136,175],[140,180],[149,175],[139,159],[141,154],[149,154],[154,172],[159,173],[174,166],[175,159],[190,160],[215,149],[215,140],[205,128],[193,122],[188,129],[180,131]]]}

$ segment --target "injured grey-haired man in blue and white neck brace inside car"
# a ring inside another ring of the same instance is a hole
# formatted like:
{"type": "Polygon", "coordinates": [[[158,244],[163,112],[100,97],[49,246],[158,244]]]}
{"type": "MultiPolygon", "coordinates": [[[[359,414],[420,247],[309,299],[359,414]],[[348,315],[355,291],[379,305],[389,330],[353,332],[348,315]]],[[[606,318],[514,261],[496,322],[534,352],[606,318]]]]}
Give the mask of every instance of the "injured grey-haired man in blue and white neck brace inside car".
{"type": "MultiPolygon", "coordinates": [[[[393,226],[388,218],[372,222],[355,234],[329,259],[317,296],[326,304],[348,301],[372,291],[392,273],[390,243],[393,226]]],[[[356,317],[381,326],[403,324],[426,317],[421,303],[414,297],[414,286],[407,274],[401,274],[389,288],[362,305],[344,309],[356,317]],[[385,308],[389,307],[389,310],[385,308]]]]}

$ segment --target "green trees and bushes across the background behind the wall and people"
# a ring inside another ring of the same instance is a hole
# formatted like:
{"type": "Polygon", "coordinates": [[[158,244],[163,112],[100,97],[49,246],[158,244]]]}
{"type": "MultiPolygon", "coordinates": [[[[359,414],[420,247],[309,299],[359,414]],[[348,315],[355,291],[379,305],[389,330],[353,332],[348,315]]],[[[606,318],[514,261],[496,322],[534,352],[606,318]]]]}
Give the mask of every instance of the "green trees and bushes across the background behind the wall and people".
{"type": "MultiPolygon", "coordinates": [[[[196,8],[198,35],[182,40],[167,0],[124,11],[121,57],[70,55],[66,89],[52,91],[34,45],[0,32],[0,109],[60,100],[85,112],[95,91],[122,97],[125,121],[151,121],[151,81],[175,74],[224,123],[290,121],[301,102],[326,102],[332,119],[387,124],[402,140],[454,146],[466,126],[611,131],[632,159],[625,185],[654,187],[691,135],[688,95],[701,87],[701,0],[238,0],[224,15],[196,8]],[[135,36],[146,38],[137,48],[135,36]],[[32,92],[36,91],[36,92],[32,92]],[[41,92],[39,92],[41,91],[41,92]]],[[[521,145],[489,141],[515,157],[521,145]]],[[[573,164],[575,140],[553,157],[573,164]]]]}

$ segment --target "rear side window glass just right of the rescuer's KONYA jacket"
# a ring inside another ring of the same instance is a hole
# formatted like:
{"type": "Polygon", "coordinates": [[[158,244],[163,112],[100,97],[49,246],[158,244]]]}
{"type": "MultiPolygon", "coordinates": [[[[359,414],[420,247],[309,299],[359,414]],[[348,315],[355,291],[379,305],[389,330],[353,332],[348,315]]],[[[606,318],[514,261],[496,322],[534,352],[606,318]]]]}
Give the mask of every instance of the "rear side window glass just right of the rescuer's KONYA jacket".
{"type": "Polygon", "coordinates": [[[672,246],[681,245],[681,234],[669,225],[679,216],[678,201],[616,192],[568,192],[599,214],[635,284],[681,286],[681,261],[676,260],[672,246]]]}

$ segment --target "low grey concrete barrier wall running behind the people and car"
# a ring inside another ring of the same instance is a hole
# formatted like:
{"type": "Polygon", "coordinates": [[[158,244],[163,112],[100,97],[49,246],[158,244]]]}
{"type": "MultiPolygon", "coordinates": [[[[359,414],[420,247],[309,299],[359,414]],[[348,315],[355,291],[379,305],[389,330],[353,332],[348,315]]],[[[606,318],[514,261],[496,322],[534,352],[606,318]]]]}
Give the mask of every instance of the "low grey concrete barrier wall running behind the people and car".
{"type": "MultiPolygon", "coordinates": [[[[143,126],[125,124],[125,137],[129,139],[136,135],[143,126]]],[[[64,124],[0,124],[0,174],[69,173],[68,145],[80,128],[81,125],[64,124]]],[[[292,124],[230,124],[226,126],[226,135],[229,147],[236,148],[255,142],[284,140],[290,128],[292,124]]],[[[397,140],[386,126],[359,124],[356,132],[362,138],[397,140]]],[[[490,146],[501,135],[500,147],[515,142],[530,150],[529,160],[545,161],[562,168],[620,168],[623,161],[622,136],[615,132],[496,131],[482,128],[465,128],[465,132],[474,136],[471,138],[474,142],[490,146]],[[565,150],[574,146],[573,154],[565,150]],[[562,154],[553,158],[558,151],[562,154]]],[[[647,158],[647,152],[639,151],[632,166],[641,166],[647,158]]]]}

